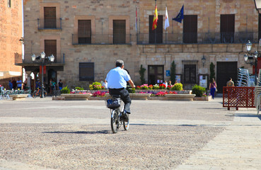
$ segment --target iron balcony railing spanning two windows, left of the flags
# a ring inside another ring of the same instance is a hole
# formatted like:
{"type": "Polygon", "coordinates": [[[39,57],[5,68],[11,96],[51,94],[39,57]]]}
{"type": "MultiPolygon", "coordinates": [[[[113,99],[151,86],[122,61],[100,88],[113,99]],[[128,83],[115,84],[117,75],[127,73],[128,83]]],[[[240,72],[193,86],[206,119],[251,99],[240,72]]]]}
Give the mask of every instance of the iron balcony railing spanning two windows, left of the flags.
{"type": "Polygon", "coordinates": [[[131,44],[130,34],[73,34],[73,45],[127,45],[131,44]]]}

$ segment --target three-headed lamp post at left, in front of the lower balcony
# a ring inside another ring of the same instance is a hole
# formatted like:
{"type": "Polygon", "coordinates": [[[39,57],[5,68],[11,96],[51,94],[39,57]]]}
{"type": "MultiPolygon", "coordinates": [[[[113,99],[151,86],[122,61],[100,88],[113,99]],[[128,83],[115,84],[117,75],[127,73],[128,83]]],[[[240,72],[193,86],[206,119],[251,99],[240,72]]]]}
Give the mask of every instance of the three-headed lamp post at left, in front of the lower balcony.
{"type": "Polygon", "coordinates": [[[43,67],[50,62],[54,62],[54,55],[51,55],[50,57],[45,57],[45,52],[41,52],[40,56],[36,57],[35,54],[33,54],[31,57],[32,57],[33,62],[35,62],[35,60],[40,60],[40,64],[42,66],[42,96],[41,96],[41,98],[43,98],[44,97],[44,90],[43,89],[45,87],[44,86],[44,79],[43,79],[43,74],[44,74],[43,67]]]}

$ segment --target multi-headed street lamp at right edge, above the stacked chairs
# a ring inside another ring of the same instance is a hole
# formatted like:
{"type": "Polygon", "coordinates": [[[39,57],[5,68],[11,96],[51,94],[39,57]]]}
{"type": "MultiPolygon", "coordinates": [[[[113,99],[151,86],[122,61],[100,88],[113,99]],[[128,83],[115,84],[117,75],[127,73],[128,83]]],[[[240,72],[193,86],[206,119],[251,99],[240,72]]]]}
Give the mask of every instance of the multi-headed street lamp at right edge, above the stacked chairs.
{"type": "MultiPolygon", "coordinates": [[[[261,1],[260,1],[260,4],[261,4],[261,1]]],[[[261,46],[261,38],[259,40],[259,45],[261,46]]],[[[244,61],[246,64],[251,64],[252,66],[255,65],[255,85],[257,85],[257,57],[261,57],[261,53],[259,53],[257,51],[251,52],[252,43],[250,42],[250,40],[248,40],[248,42],[245,44],[245,48],[248,53],[245,53],[244,61]]]]}

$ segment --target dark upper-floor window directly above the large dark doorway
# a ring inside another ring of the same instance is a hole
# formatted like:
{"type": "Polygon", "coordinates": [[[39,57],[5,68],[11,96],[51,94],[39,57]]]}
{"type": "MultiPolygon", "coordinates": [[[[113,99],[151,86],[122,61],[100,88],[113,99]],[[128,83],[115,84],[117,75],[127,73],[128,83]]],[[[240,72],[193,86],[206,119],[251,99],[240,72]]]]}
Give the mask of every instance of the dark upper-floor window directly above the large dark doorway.
{"type": "Polygon", "coordinates": [[[220,16],[221,42],[232,43],[235,32],[235,14],[223,14],[220,16]]]}

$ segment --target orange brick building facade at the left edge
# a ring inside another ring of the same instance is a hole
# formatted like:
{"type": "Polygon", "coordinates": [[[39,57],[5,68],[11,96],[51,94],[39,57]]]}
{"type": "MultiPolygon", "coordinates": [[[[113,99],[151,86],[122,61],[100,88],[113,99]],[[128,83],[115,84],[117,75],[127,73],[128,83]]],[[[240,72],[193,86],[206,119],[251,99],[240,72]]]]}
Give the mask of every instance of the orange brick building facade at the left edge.
{"type": "Polygon", "coordinates": [[[23,1],[0,1],[0,84],[8,89],[8,80],[22,77],[23,1]],[[20,60],[16,60],[20,59],[20,60]]]}

